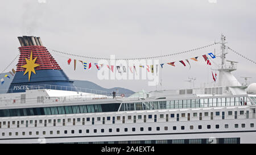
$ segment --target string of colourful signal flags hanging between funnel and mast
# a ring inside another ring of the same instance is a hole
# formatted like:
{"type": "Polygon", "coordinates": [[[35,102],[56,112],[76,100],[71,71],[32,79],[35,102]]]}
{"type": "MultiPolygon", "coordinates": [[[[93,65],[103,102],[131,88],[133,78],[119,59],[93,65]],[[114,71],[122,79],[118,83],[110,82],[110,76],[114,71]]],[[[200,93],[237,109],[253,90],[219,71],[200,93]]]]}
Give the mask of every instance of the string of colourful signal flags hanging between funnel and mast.
{"type": "MultiPolygon", "coordinates": [[[[207,65],[212,65],[212,63],[210,62],[210,58],[216,58],[216,56],[213,55],[213,53],[208,53],[208,54],[202,55],[202,57],[204,58],[207,65]]],[[[189,69],[191,69],[191,64],[190,64],[189,61],[191,61],[191,60],[198,61],[198,58],[199,58],[199,56],[192,57],[192,58],[185,59],[185,60],[180,60],[180,61],[167,62],[167,63],[160,64],[160,67],[163,68],[164,64],[171,65],[171,66],[175,67],[176,62],[180,62],[181,64],[183,64],[183,66],[189,65],[189,69]]],[[[86,69],[90,70],[93,66],[97,70],[100,70],[104,66],[104,64],[97,64],[97,63],[93,63],[93,62],[87,62],[87,61],[73,59],[74,70],[76,70],[76,62],[77,61],[81,62],[84,70],[86,70],[86,69]]],[[[68,62],[68,65],[71,65],[72,59],[68,58],[67,62],[68,62]]],[[[122,73],[122,72],[126,73],[127,72],[126,66],[115,66],[114,67],[114,65],[106,65],[106,67],[109,68],[112,72],[114,72],[115,67],[117,68],[118,73],[122,73]]],[[[133,66],[128,66],[128,67],[129,67],[131,73],[136,72],[136,67],[146,68],[147,72],[154,73],[154,65],[146,65],[146,66],[144,66],[144,65],[139,65],[139,66],[133,65],[133,66]]],[[[155,65],[155,69],[156,69],[156,72],[157,72],[158,71],[158,64],[155,65]]]]}

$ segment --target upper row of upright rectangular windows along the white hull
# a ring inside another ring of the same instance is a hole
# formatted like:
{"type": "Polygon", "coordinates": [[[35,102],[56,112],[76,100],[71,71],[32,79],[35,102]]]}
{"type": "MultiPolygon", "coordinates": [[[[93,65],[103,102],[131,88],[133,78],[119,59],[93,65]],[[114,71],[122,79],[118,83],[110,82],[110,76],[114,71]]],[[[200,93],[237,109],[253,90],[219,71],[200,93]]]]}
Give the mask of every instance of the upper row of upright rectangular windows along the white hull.
{"type": "MultiPolygon", "coordinates": [[[[255,112],[255,111],[254,111],[255,112]]],[[[193,112],[193,117],[197,117],[197,112],[193,112]]],[[[202,120],[202,112],[199,112],[199,119],[202,120]]],[[[245,112],[244,111],[240,111],[239,113],[240,115],[244,115],[245,112]]],[[[246,114],[249,114],[249,111],[246,111],[246,114]]],[[[181,113],[181,118],[185,118],[185,113],[181,113]]],[[[233,115],[233,111],[228,111],[228,115],[233,115]]],[[[237,111],[234,111],[234,118],[237,119],[237,111]]],[[[209,112],[204,112],[204,116],[209,116],[209,112]]],[[[216,111],[215,112],[215,116],[220,116],[220,111],[216,111]]],[[[246,116],[248,117],[248,116],[246,116]]],[[[127,119],[128,120],[131,120],[132,116],[129,115],[127,116],[127,119]]],[[[157,115],[154,115],[154,121],[156,122],[156,118],[157,118],[157,115]]],[[[164,118],[164,114],[159,114],[159,118],[164,118]]],[[[170,118],[175,118],[175,114],[170,114],[170,118]]],[[[180,115],[179,114],[176,114],[176,120],[179,121],[179,118],[180,118],[180,115]]],[[[188,120],[190,120],[190,113],[187,113],[187,118],[188,120]]],[[[133,119],[134,119],[134,123],[136,123],[136,119],[137,119],[137,116],[134,115],[133,116],[133,119]]],[[[142,119],[142,115],[138,115],[138,119],[142,119]]],[[[143,119],[144,119],[144,122],[146,122],[146,115],[143,115],[143,119]]],[[[152,115],[148,115],[148,119],[152,119],[152,115]]],[[[210,112],[210,119],[213,119],[213,112],[210,112]]],[[[222,111],[222,119],[225,119],[225,112],[222,111]]],[[[71,122],[71,118],[68,118],[68,123],[71,122]]],[[[96,119],[97,121],[101,121],[101,117],[97,117],[96,119]]],[[[110,116],[107,116],[106,117],[106,120],[111,120],[111,117],[110,116]]],[[[112,118],[113,120],[113,124],[115,123],[115,116],[113,116],[112,118]]],[[[121,120],[121,116],[117,116],[117,120],[121,120]]],[[[125,123],[125,116],[122,116],[122,120],[123,120],[123,123],[125,123]]],[[[166,114],[166,121],[168,122],[168,114],[166,114]]],[[[77,118],[77,119],[73,119],[73,125],[75,125],[75,122],[81,122],[81,118],[77,118]],[[77,120],[77,121],[76,121],[77,120]]],[[[86,118],[86,122],[90,122],[90,118],[86,118]]],[[[94,124],[95,120],[94,118],[92,118],[92,124],[94,124]]],[[[37,124],[37,120],[29,120],[29,124],[37,124]]],[[[43,123],[43,120],[39,120],[39,124],[42,124],[43,123]]],[[[47,120],[44,120],[44,124],[46,126],[46,123],[47,123],[47,120]]],[[[52,120],[51,119],[48,119],[48,123],[52,123],[52,120]]],[[[57,119],[57,123],[61,123],[61,119],[57,119]]],[[[85,123],[85,118],[82,118],[82,123],[84,125],[85,123]]],[[[105,117],[102,117],[102,123],[105,124],[105,117]]],[[[12,121],[12,124],[14,125],[15,124],[15,121],[12,121]]],[[[21,120],[20,121],[20,124],[24,124],[24,120],[21,120]]],[[[19,121],[17,121],[17,127],[19,127],[19,121]]],[[[63,124],[65,124],[65,119],[63,119],[63,124]]],[[[0,122],[0,128],[2,127],[2,125],[6,125],[6,122],[0,122]]],[[[53,125],[56,125],[56,119],[53,119],[53,125]]],[[[26,120],[26,127],[28,126],[28,120],[26,120]]],[[[8,122],[8,127],[10,128],[10,122],[8,122]]]]}

